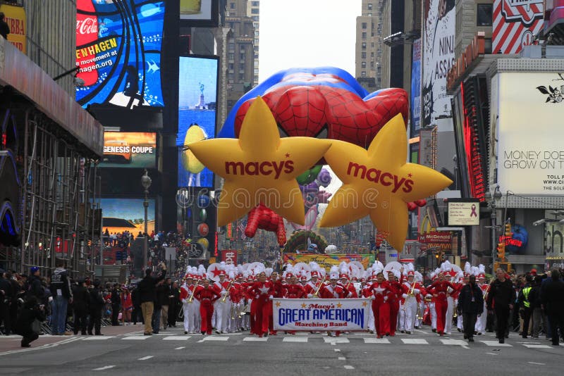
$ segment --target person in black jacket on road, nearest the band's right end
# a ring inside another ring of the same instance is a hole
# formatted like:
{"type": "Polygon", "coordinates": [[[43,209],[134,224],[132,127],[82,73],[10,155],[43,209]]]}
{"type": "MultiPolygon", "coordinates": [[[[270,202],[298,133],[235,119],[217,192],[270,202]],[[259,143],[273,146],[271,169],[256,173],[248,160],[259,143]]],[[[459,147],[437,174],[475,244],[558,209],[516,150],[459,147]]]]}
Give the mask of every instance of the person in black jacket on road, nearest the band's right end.
{"type": "Polygon", "coordinates": [[[476,319],[484,313],[484,296],[482,289],[476,284],[476,276],[470,275],[470,282],[465,284],[458,296],[459,314],[462,315],[464,325],[464,338],[469,342],[474,341],[474,328],[476,319]]]}

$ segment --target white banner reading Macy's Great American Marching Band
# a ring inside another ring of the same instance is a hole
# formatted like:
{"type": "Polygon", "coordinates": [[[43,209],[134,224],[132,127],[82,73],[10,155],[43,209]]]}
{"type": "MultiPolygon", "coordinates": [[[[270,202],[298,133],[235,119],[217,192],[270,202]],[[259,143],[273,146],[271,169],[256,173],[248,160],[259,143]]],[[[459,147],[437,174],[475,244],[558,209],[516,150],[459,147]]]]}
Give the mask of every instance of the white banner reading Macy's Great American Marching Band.
{"type": "Polygon", "coordinates": [[[273,299],[274,330],[368,330],[370,299],[273,299]]]}

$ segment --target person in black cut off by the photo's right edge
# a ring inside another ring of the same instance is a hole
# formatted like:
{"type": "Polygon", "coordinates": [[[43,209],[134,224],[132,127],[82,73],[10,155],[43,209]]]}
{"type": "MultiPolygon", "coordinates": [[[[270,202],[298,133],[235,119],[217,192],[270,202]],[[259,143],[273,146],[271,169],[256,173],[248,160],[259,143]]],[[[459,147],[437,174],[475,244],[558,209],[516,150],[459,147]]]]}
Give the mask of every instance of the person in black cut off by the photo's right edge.
{"type": "Polygon", "coordinates": [[[558,346],[558,327],[564,341],[564,282],[560,279],[560,272],[556,268],[551,270],[551,280],[541,289],[541,301],[544,311],[548,314],[552,344],[558,346]]]}

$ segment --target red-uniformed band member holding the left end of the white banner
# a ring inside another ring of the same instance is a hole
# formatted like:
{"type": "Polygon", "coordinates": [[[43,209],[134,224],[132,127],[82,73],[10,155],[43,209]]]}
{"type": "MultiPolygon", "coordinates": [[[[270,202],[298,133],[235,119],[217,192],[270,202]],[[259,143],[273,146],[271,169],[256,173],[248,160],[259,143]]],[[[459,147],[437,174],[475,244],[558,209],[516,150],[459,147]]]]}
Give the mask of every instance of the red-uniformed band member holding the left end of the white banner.
{"type": "Polygon", "coordinates": [[[251,327],[253,333],[259,337],[268,336],[269,334],[269,314],[272,312],[272,290],[271,282],[266,281],[266,273],[259,274],[259,281],[252,284],[247,294],[253,296],[251,306],[251,315],[254,316],[254,327],[251,327]]]}

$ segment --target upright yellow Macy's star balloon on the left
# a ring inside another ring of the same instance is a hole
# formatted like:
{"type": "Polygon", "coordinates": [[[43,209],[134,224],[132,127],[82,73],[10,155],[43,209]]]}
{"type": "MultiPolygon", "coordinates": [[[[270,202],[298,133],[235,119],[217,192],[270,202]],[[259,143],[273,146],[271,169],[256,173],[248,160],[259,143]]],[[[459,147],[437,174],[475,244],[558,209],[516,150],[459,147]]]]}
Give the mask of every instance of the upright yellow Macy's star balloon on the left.
{"type": "Polygon", "coordinates": [[[250,106],[238,139],[207,139],[188,149],[225,179],[217,223],[243,217],[259,203],[290,222],[304,223],[304,201],[295,180],[331,146],[326,139],[281,138],[274,115],[259,96],[250,106]]]}

